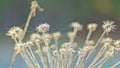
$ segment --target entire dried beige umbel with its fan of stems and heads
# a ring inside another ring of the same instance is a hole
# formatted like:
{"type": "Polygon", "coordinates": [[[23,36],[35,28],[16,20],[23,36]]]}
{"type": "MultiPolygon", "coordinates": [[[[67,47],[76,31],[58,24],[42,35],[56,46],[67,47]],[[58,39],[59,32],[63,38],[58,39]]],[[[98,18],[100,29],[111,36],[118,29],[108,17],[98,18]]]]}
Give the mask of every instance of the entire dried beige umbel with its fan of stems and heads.
{"type": "MultiPolygon", "coordinates": [[[[35,0],[31,2],[30,8],[31,11],[25,28],[14,26],[6,34],[15,41],[15,53],[11,61],[11,68],[15,61],[14,57],[18,54],[22,56],[29,68],[102,68],[104,63],[111,57],[113,58],[114,55],[117,55],[120,50],[120,40],[113,41],[111,37],[105,37],[106,33],[108,36],[108,33],[113,31],[116,26],[113,21],[109,20],[103,21],[103,33],[96,41],[92,40],[91,35],[97,30],[98,25],[95,23],[88,24],[88,34],[84,44],[80,40],[76,41],[77,33],[83,30],[83,26],[79,22],[70,24],[73,31],[67,32],[67,36],[65,34],[63,39],[68,37],[69,40],[64,42],[60,41],[60,37],[64,35],[61,32],[58,31],[52,34],[48,32],[50,30],[48,23],[42,23],[37,26],[37,32],[30,34],[29,39],[23,40],[26,37],[25,34],[30,19],[36,15],[37,8],[41,11],[43,10],[35,0]],[[37,59],[37,56],[39,59],[37,59]]],[[[118,64],[120,64],[120,60],[110,67],[115,68],[118,64]]]]}

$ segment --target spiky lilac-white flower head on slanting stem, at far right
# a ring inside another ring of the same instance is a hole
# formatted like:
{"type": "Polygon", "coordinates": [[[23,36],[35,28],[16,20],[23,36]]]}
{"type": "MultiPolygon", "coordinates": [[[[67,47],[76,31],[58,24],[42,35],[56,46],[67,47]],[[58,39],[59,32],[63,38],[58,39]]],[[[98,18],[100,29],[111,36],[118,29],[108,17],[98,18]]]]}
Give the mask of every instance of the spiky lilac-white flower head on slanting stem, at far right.
{"type": "Polygon", "coordinates": [[[103,25],[102,25],[102,28],[104,29],[104,31],[106,33],[109,33],[110,31],[114,31],[116,25],[114,25],[114,22],[113,21],[103,21],[103,25]]]}

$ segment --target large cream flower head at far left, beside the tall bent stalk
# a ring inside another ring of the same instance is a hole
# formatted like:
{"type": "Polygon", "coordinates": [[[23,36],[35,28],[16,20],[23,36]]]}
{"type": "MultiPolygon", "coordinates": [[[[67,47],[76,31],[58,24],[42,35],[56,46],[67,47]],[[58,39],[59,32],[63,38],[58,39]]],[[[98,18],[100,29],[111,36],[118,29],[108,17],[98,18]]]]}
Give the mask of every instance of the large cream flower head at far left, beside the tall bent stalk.
{"type": "Polygon", "coordinates": [[[13,38],[18,38],[20,39],[23,33],[23,29],[21,29],[18,26],[13,26],[12,28],[9,29],[8,33],[6,33],[7,36],[10,36],[12,39],[13,38]]]}

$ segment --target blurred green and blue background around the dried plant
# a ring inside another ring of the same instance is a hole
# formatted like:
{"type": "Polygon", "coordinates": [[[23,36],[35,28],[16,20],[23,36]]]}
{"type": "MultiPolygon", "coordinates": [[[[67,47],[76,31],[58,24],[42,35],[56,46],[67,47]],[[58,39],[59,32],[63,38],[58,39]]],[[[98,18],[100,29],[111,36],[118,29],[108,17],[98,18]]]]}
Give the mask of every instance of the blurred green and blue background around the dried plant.
{"type": "MultiPolygon", "coordinates": [[[[0,68],[9,68],[13,54],[14,42],[5,34],[14,25],[24,27],[30,10],[32,0],[1,0],[0,2],[0,68]]],[[[37,11],[37,15],[32,18],[28,33],[35,32],[35,27],[40,23],[47,22],[51,25],[50,32],[61,31],[66,33],[71,30],[69,24],[73,21],[84,25],[84,30],[80,34],[80,40],[84,41],[87,35],[86,25],[88,23],[99,24],[93,39],[98,39],[102,33],[102,22],[112,20],[117,25],[117,30],[111,32],[109,36],[119,39],[120,34],[120,0],[37,0],[44,8],[44,12],[37,11]]],[[[119,53],[118,53],[119,54],[119,53]]],[[[120,60],[120,55],[115,55],[105,65],[110,65],[120,60]],[[117,58],[117,59],[116,59],[117,58]]],[[[21,56],[17,56],[15,68],[26,68],[21,56]],[[19,67],[21,66],[21,67],[19,67]]]]}

